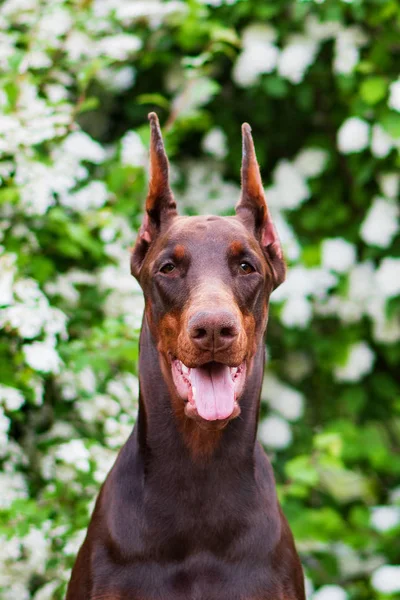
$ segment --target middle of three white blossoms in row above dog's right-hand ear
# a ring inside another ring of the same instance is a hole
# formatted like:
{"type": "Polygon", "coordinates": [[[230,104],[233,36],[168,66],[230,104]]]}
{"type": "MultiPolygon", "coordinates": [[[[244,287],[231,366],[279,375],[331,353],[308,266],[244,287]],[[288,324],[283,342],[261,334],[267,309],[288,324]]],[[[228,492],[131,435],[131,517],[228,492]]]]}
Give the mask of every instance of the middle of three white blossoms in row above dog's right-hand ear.
{"type": "Polygon", "coordinates": [[[302,35],[292,36],[279,56],[279,75],[292,83],[300,83],[317,51],[318,44],[314,40],[302,35]]]}

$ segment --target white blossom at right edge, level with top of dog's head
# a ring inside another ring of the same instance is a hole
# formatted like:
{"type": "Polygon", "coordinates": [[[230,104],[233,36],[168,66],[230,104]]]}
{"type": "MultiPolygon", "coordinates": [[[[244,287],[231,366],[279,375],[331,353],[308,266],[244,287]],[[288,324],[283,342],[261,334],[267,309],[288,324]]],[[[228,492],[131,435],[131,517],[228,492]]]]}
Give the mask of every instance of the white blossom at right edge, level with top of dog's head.
{"type": "Polygon", "coordinates": [[[386,198],[375,198],[360,228],[360,237],[369,245],[387,248],[396,235],[399,207],[386,198]]]}

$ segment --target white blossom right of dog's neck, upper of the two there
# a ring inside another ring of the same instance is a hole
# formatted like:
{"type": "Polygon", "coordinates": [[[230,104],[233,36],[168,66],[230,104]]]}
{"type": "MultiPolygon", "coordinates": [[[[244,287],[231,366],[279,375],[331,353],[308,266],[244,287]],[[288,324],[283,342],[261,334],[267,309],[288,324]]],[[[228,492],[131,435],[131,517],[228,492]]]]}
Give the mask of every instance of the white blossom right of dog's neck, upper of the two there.
{"type": "Polygon", "coordinates": [[[303,414],[303,394],[285,385],[274,375],[267,374],[264,378],[261,398],[288,421],[297,421],[303,414]]]}

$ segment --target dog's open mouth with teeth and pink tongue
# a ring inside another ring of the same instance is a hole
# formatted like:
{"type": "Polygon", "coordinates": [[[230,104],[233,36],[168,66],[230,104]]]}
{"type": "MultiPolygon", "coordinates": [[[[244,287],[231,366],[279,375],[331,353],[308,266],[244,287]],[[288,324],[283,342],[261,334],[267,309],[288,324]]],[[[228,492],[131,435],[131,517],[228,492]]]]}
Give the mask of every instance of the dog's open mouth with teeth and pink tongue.
{"type": "Polygon", "coordinates": [[[209,362],[189,368],[174,359],[171,370],[177,392],[186,401],[188,417],[227,422],[240,413],[238,398],[246,380],[245,361],[238,367],[209,362]]]}

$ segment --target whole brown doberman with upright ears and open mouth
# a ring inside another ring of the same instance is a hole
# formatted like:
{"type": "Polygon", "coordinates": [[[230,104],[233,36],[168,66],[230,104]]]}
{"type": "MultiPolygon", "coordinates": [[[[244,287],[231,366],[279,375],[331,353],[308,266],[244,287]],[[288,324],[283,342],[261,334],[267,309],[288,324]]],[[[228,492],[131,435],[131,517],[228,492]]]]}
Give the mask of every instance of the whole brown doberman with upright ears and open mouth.
{"type": "Polygon", "coordinates": [[[285,263],[246,123],[234,217],[179,217],[156,114],[139,415],[98,497],[67,600],[304,600],[256,441],[270,293],[285,263]]]}

